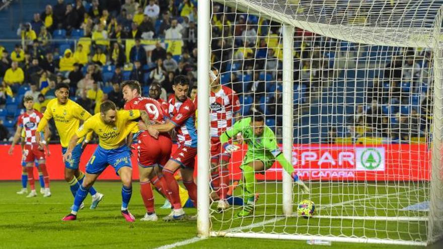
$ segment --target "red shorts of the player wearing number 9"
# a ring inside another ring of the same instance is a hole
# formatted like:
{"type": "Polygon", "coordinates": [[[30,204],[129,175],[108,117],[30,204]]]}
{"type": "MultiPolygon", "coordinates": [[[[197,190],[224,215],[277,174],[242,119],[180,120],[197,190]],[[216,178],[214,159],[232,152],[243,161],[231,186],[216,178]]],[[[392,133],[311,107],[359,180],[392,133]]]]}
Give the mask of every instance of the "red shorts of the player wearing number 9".
{"type": "Polygon", "coordinates": [[[141,167],[164,166],[171,156],[172,140],[169,134],[153,138],[147,131],[138,135],[137,159],[141,167]]]}

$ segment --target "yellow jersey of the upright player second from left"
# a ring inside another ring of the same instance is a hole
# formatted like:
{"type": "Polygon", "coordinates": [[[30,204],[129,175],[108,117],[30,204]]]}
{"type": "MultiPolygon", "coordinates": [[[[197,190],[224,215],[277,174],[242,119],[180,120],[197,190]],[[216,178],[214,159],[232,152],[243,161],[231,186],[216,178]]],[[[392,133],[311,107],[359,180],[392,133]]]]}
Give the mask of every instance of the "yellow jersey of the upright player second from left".
{"type": "MultiPolygon", "coordinates": [[[[76,134],[76,131],[79,129],[80,121],[85,121],[90,117],[92,117],[92,115],[76,102],[68,100],[66,104],[61,105],[57,99],[52,99],[49,101],[43,118],[38,124],[37,132],[43,131],[44,127],[48,124],[48,120],[53,118],[60,136],[61,146],[66,148],[69,145],[71,137],[76,134]]],[[[91,135],[92,134],[89,134],[88,138],[91,135]]],[[[80,143],[81,141],[83,141],[83,139],[78,142],[80,143]]]]}

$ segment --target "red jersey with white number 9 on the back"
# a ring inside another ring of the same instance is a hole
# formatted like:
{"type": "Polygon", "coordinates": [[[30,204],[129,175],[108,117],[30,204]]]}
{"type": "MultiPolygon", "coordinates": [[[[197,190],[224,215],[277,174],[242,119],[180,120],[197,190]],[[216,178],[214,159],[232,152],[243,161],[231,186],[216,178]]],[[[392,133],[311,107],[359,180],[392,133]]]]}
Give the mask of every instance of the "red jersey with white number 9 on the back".
{"type": "Polygon", "coordinates": [[[168,118],[168,109],[157,100],[147,97],[136,97],[126,102],[125,110],[143,110],[146,111],[152,124],[163,124],[165,118],[168,118]]]}

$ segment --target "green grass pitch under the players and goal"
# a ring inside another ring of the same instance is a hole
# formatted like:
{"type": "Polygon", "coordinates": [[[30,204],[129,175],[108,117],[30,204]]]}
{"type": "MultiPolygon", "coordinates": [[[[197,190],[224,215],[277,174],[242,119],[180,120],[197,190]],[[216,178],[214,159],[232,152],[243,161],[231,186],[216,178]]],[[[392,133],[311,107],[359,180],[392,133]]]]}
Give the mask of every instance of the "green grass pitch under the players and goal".
{"type": "MultiPolygon", "coordinates": [[[[36,183],[38,185],[38,182],[36,183]]],[[[78,220],[61,222],[60,219],[69,213],[72,196],[64,182],[52,182],[52,197],[26,198],[17,195],[20,189],[19,182],[0,182],[0,248],[156,248],[176,243],[196,236],[196,222],[183,221],[167,223],[141,222],[144,206],[139,195],[139,185],[133,184],[133,195],[129,210],[137,221],[129,224],[120,215],[121,184],[118,182],[98,181],[95,187],[105,198],[96,210],[90,210],[91,197],[87,197],[85,209],[79,212],[78,220]]],[[[311,199],[317,203],[343,203],[340,207],[324,205],[320,215],[401,215],[405,211],[398,211],[398,207],[421,201],[425,190],[415,185],[392,185],[377,188],[350,183],[313,183],[311,185],[311,199]],[[399,195],[396,195],[396,190],[399,195]],[[330,193],[334,193],[331,195],[330,193]],[[377,197],[379,196],[379,197],[377,197]],[[396,200],[396,201],[393,201],[396,200]],[[389,210],[379,210],[377,207],[389,205],[389,210]],[[346,208],[346,207],[352,208],[346,208]],[[363,209],[363,207],[366,207],[363,209]]],[[[423,186],[424,187],[424,186],[423,186]]],[[[279,205],[265,203],[281,203],[280,183],[259,183],[257,190],[260,195],[255,211],[255,218],[232,219],[237,211],[228,211],[224,214],[211,212],[212,230],[227,230],[239,226],[254,225],[275,217],[280,213],[279,205]],[[266,193],[266,194],[265,194],[266,193]]],[[[424,188],[426,189],[426,188],[424,188]]],[[[294,189],[297,191],[297,189],[294,189]]],[[[38,188],[37,188],[38,191],[38,188]]],[[[239,194],[240,190],[236,191],[239,194]]],[[[294,195],[294,198],[307,199],[307,196],[294,195]]],[[[169,213],[169,210],[160,209],[164,199],[156,195],[156,211],[159,217],[169,213]]],[[[195,209],[186,209],[188,214],[195,214],[195,209]]],[[[414,215],[419,215],[415,213],[414,215]]],[[[276,219],[275,222],[248,229],[255,232],[286,232],[338,235],[365,235],[368,237],[393,239],[425,239],[424,222],[375,222],[362,220],[330,220],[330,219],[303,219],[288,218],[276,219]],[[406,225],[405,225],[406,224],[406,225]],[[392,233],[377,231],[388,229],[392,233]]],[[[332,243],[333,248],[387,248],[383,244],[332,243]]],[[[306,241],[275,240],[275,239],[246,239],[214,237],[180,246],[179,248],[325,248],[325,246],[308,245],[306,241]]],[[[331,247],[330,247],[331,248],[331,247]]],[[[389,245],[395,248],[416,248],[415,246],[389,245]]],[[[439,248],[439,247],[434,247],[439,248]]],[[[441,247],[440,247],[441,248],[441,247]]]]}

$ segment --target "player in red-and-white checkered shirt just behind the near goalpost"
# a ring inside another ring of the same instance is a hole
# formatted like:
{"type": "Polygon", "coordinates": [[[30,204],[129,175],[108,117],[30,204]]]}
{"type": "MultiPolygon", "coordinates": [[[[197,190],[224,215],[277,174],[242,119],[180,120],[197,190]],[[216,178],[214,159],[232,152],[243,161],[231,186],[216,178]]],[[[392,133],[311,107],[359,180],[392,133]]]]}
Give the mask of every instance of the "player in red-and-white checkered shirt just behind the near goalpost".
{"type": "MultiPolygon", "coordinates": [[[[209,71],[210,86],[210,133],[211,133],[211,186],[217,192],[217,208],[223,211],[229,208],[227,193],[229,189],[228,162],[231,154],[224,153],[220,135],[231,128],[233,118],[240,117],[240,101],[236,92],[220,85],[220,75],[215,67],[209,71]]],[[[194,100],[197,107],[198,97],[194,100]]]]}

